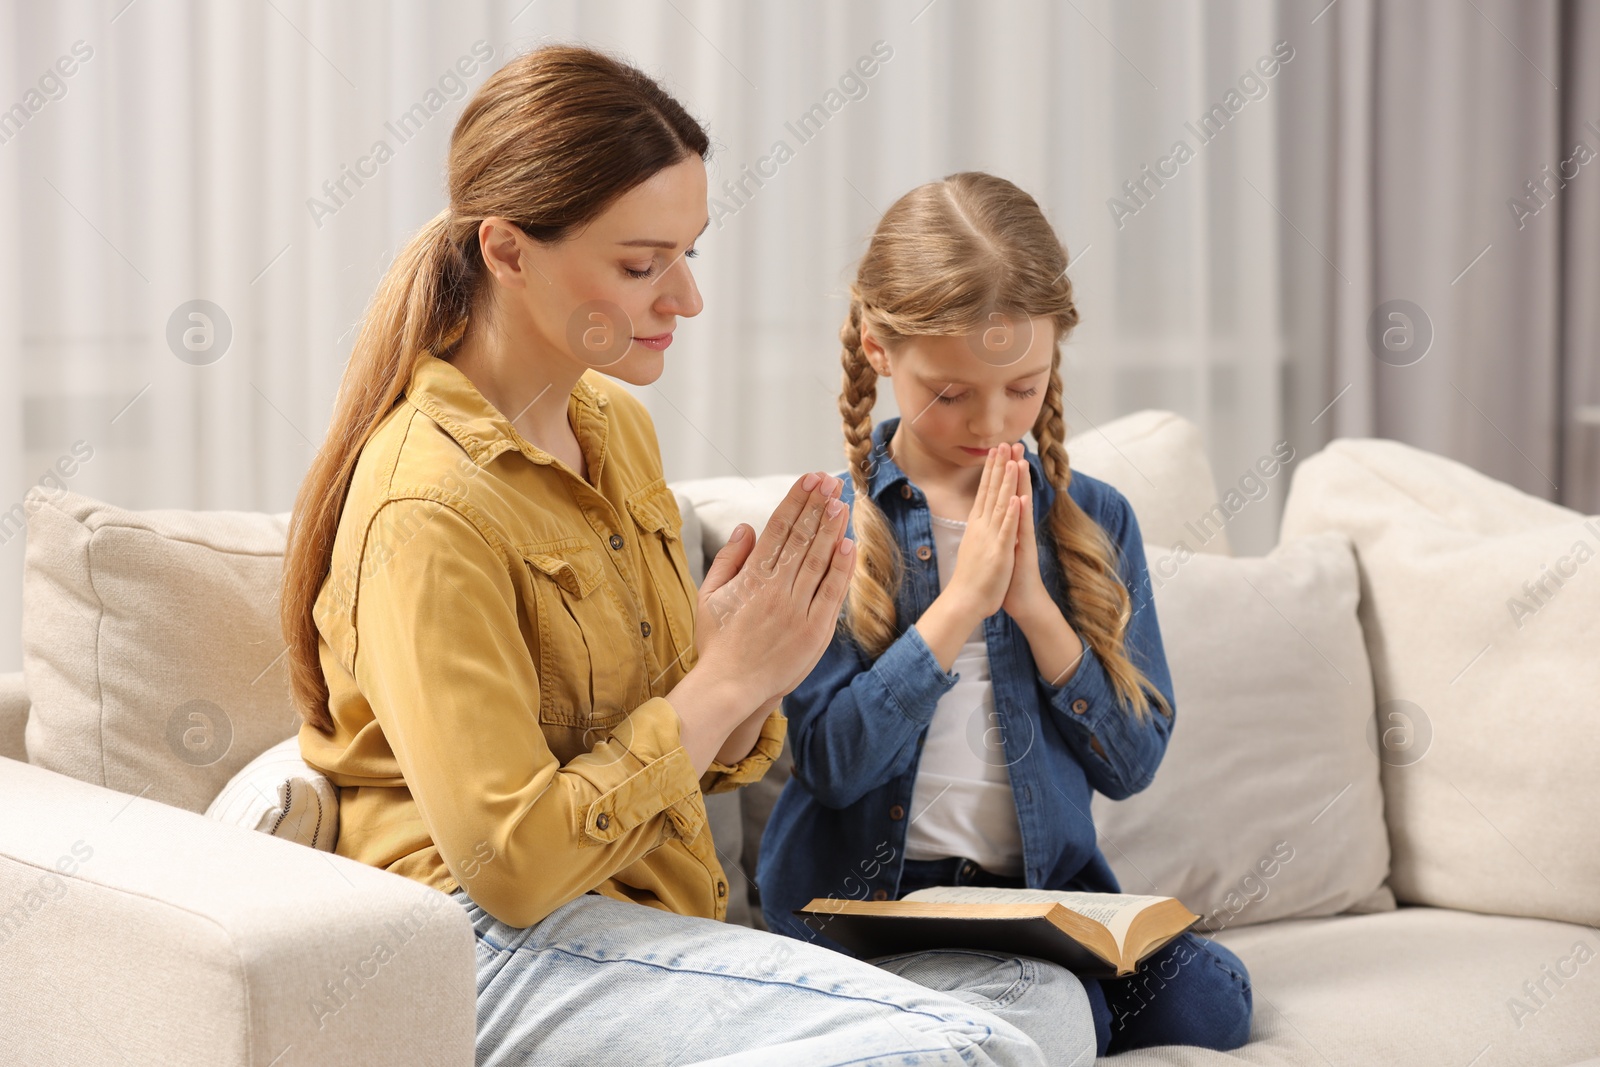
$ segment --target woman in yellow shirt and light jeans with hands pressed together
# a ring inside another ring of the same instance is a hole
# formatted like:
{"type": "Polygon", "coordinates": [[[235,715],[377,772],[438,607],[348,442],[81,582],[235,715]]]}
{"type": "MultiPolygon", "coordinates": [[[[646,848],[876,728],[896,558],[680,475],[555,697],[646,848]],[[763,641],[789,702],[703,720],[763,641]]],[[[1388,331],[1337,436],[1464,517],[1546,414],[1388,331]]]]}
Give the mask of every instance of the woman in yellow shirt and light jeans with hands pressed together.
{"type": "Polygon", "coordinates": [[[781,750],[853,545],[810,474],[696,598],[650,414],[605,381],[654,381],[701,310],[707,154],[582,48],[514,59],[456,123],[450,206],[378,290],[285,560],[339,853],[467,910],[480,1064],[1090,1062],[1059,968],[877,968],[717,921],[704,793],[781,750]]]}

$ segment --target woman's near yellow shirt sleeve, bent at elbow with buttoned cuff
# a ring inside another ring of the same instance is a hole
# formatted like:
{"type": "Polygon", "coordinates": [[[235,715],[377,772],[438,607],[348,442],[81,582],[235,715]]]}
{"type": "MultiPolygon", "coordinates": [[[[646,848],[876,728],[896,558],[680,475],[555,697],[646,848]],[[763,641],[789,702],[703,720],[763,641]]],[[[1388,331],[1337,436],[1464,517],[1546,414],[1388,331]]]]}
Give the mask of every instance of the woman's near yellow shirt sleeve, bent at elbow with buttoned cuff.
{"type": "Polygon", "coordinates": [[[666,697],[565,765],[550,752],[510,561],[461,510],[386,502],[362,557],[358,688],[443,862],[478,905],[528,926],[669,833],[701,833],[699,777],[666,697]]]}

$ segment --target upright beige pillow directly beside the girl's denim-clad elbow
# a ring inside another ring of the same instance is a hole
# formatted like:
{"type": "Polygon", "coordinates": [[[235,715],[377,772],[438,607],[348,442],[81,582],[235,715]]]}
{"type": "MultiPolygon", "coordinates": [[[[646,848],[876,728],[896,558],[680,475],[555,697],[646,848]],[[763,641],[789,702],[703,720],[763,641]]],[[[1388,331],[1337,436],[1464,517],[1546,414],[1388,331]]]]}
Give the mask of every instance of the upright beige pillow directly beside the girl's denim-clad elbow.
{"type": "Polygon", "coordinates": [[[1155,781],[1093,800],[1123,891],[1176,896],[1200,933],[1394,909],[1349,541],[1146,557],[1178,715],[1155,781]]]}

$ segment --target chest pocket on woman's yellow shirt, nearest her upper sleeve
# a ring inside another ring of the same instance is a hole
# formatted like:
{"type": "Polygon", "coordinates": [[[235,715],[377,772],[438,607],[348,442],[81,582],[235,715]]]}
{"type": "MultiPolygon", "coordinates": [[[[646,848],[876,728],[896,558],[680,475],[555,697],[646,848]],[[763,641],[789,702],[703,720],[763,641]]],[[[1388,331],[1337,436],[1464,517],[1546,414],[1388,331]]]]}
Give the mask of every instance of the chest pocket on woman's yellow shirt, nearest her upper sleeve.
{"type": "Polygon", "coordinates": [[[587,541],[562,537],[520,549],[539,627],[539,721],[608,728],[630,709],[638,637],[587,541]]]}

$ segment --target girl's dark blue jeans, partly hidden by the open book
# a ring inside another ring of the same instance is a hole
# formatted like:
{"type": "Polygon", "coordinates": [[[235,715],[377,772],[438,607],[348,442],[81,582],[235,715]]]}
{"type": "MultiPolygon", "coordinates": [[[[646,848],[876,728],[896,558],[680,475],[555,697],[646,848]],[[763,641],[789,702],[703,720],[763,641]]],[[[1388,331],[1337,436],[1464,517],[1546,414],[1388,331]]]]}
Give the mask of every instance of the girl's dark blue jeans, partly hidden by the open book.
{"type": "MultiPolygon", "coordinates": [[[[907,859],[899,894],[926,886],[1013,886],[1026,883],[984,870],[960,856],[907,859]]],[[[1250,973],[1214,941],[1184,933],[1150,953],[1138,974],[1078,977],[1094,1013],[1094,1048],[1115,1056],[1149,1045],[1234,1049],[1250,1040],[1250,973]]]]}

